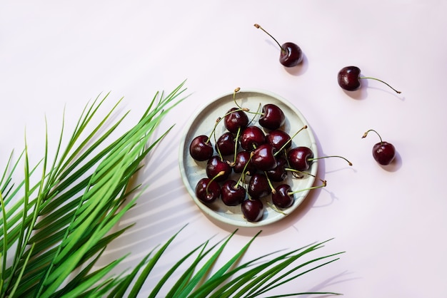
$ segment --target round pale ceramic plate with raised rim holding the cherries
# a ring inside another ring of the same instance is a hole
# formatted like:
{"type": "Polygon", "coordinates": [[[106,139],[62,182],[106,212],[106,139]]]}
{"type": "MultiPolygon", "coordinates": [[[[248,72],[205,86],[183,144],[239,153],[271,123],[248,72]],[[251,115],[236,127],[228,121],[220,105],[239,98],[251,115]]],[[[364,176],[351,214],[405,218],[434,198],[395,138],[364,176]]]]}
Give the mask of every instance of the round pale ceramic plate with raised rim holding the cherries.
{"type": "MultiPolygon", "coordinates": [[[[318,151],[316,141],[310,125],[308,125],[301,112],[298,111],[298,109],[291,103],[286,101],[286,99],[267,91],[241,89],[241,91],[236,93],[236,101],[239,106],[248,108],[250,111],[260,111],[260,107],[266,103],[275,104],[281,108],[284,115],[286,115],[286,123],[284,123],[281,129],[285,130],[289,135],[295,134],[296,131],[304,125],[307,125],[308,129],[302,130],[292,139],[292,146],[307,146],[311,148],[313,155],[315,157],[317,156],[318,151]]],[[[210,135],[214,128],[214,124],[216,123],[216,119],[222,117],[230,108],[235,106],[236,104],[233,101],[233,92],[231,92],[216,98],[214,101],[211,101],[211,103],[204,106],[204,108],[201,108],[201,110],[195,115],[192,115],[191,120],[186,125],[184,135],[180,142],[179,166],[181,177],[186,185],[186,189],[193,198],[194,202],[196,202],[196,205],[208,217],[237,227],[259,227],[262,225],[269,225],[283,219],[287,215],[291,214],[291,212],[296,210],[298,205],[300,205],[308,195],[309,190],[296,193],[294,195],[293,205],[285,210],[281,210],[281,212],[278,212],[271,207],[270,195],[263,197],[261,200],[263,201],[264,214],[263,219],[259,222],[248,222],[242,215],[240,205],[226,206],[220,199],[211,204],[204,204],[196,197],[196,184],[201,178],[206,177],[206,161],[198,162],[191,158],[191,155],[189,154],[189,145],[197,135],[210,135]]],[[[248,118],[252,119],[253,114],[248,113],[248,118]]],[[[253,119],[251,124],[258,125],[257,120],[258,116],[253,119]]],[[[216,138],[219,138],[219,136],[225,131],[226,128],[224,126],[224,122],[221,121],[216,128],[216,138]]],[[[264,130],[264,132],[267,131],[264,130]]],[[[214,144],[214,138],[211,138],[211,141],[214,144]]],[[[305,175],[304,178],[293,178],[293,176],[289,173],[288,178],[284,181],[284,183],[291,185],[292,190],[300,190],[311,187],[315,180],[313,175],[316,175],[317,167],[318,163],[311,163],[311,168],[308,170],[308,173],[311,175],[305,175]]],[[[238,174],[233,173],[232,175],[234,175],[233,179],[238,179],[238,174]]]]}

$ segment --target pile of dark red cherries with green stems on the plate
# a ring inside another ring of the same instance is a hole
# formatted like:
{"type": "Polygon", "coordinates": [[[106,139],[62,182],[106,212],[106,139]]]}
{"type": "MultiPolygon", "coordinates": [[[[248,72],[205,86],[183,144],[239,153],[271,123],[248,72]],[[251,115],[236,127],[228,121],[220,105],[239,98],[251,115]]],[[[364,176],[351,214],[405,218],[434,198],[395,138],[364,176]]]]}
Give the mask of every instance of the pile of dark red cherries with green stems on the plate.
{"type": "Polygon", "coordinates": [[[306,172],[315,159],[311,148],[292,147],[291,141],[306,125],[289,135],[283,130],[286,117],[278,106],[267,103],[253,112],[234,102],[235,106],[216,120],[211,135],[198,135],[189,145],[194,160],[206,161],[206,177],[195,189],[201,202],[209,205],[221,200],[227,206],[240,205],[246,220],[258,222],[263,218],[264,203],[283,212],[293,205],[294,193],[326,186],[321,180],[321,185],[291,190],[286,183],[288,173],[296,179],[311,175],[306,172]],[[253,114],[251,120],[249,114],[253,114]],[[221,122],[225,131],[216,136],[221,122]],[[232,173],[238,174],[237,180],[232,173]]]}

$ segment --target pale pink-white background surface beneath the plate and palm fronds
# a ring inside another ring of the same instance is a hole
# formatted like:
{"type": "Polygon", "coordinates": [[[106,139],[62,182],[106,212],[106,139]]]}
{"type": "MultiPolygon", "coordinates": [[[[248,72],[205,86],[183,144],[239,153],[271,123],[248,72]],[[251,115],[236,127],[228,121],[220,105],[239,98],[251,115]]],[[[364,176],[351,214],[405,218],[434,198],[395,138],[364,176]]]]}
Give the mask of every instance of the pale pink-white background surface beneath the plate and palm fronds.
{"type": "MultiPolygon", "coordinates": [[[[136,119],[156,91],[187,79],[191,96],[161,124],[160,133],[176,126],[139,177],[149,189],[121,222],[136,225],[101,261],[130,252],[118,270],[132,267],[189,224],[144,297],[179,256],[235,229],[207,219],[186,192],[178,165],[184,125],[236,87],[261,88],[303,113],[319,155],[343,155],[353,167],[321,161],[318,175],[327,187],[285,220],[262,227],[244,260],[334,238],[314,256],[346,251],[341,260],[275,293],[446,297],[446,14],[447,2],[436,0],[2,2],[0,165],[12,149],[24,148],[25,132],[31,159],[41,158],[45,118],[54,145],[64,108],[70,131],[86,103],[110,91],[106,106],[124,96],[122,111],[136,119]],[[255,23],[280,43],[301,46],[303,65],[283,68],[277,46],[255,23]],[[343,91],[336,74],[348,65],[402,93],[376,81],[343,91]],[[373,160],[378,140],[361,139],[370,128],[396,146],[392,166],[373,160]]],[[[240,229],[220,262],[257,231],[240,229]]]]}

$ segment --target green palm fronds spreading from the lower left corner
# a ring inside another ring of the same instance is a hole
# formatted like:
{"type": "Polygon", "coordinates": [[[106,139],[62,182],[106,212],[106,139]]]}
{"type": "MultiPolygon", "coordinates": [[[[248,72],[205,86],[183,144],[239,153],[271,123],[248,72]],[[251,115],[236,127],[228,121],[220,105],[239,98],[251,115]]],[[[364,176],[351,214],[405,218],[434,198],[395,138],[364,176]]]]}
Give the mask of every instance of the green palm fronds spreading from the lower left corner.
{"type": "MultiPolygon", "coordinates": [[[[44,157],[34,165],[26,140],[18,160],[14,162],[11,153],[0,177],[0,297],[136,297],[141,292],[181,230],[130,272],[110,276],[126,256],[99,269],[94,267],[109,243],[132,226],[111,232],[144,191],[142,185],[132,185],[131,178],[169,133],[171,128],[154,139],[166,113],[186,98],[181,97],[185,90],[181,83],[167,95],[156,93],[135,125],[118,137],[114,137],[116,128],[129,112],[109,128],[105,125],[121,99],[99,124],[91,124],[109,98],[106,94],[84,108],[66,145],[63,120],[53,159],[49,157],[48,135],[44,157]],[[20,169],[24,178],[13,183],[20,169]]],[[[181,257],[155,284],[149,297],[158,297],[162,290],[166,297],[265,297],[271,289],[337,260],[334,257],[338,254],[333,254],[299,262],[322,247],[321,242],[272,260],[267,258],[277,252],[239,264],[256,234],[209,276],[234,233],[211,247],[206,240],[181,257]],[[174,287],[165,289],[182,265],[186,269],[176,274],[174,287]]]]}

